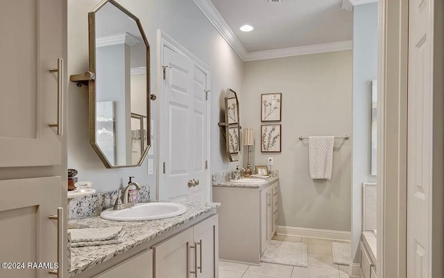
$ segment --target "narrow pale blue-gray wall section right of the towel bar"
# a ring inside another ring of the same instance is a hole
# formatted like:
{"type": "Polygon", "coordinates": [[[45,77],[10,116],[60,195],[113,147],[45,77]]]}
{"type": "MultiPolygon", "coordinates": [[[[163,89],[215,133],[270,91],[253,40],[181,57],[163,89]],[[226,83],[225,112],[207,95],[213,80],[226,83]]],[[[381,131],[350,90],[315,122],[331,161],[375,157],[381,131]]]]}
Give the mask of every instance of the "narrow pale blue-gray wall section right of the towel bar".
{"type": "Polygon", "coordinates": [[[359,262],[362,183],[370,176],[372,80],[377,78],[377,3],[354,7],[353,15],[353,150],[352,257],[359,262]]]}

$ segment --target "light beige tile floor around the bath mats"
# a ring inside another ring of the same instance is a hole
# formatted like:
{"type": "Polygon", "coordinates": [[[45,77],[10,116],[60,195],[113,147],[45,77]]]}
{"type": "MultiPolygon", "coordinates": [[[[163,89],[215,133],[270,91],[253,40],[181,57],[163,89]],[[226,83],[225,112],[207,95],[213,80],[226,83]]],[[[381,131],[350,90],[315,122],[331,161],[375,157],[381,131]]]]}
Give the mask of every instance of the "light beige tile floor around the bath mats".
{"type": "Polygon", "coordinates": [[[348,266],[333,264],[332,241],[287,236],[275,236],[273,239],[307,243],[308,268],[274,263],[248,266],[219,261],[219,278],[348,278],[348,266]]]}

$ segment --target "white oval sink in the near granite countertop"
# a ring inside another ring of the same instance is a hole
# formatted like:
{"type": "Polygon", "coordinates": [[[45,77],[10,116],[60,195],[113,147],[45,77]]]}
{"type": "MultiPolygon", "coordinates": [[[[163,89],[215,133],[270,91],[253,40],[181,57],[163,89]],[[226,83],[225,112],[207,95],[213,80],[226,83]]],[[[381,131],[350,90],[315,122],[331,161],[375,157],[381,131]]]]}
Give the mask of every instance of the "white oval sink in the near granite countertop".
{"type": "Polygon", "coordinates": [[[146,221],[178,216],[187,212],[187,207],[178,203],[139,203],[124,210],[104,210],[100,216],[114,221],[146,221]]]}

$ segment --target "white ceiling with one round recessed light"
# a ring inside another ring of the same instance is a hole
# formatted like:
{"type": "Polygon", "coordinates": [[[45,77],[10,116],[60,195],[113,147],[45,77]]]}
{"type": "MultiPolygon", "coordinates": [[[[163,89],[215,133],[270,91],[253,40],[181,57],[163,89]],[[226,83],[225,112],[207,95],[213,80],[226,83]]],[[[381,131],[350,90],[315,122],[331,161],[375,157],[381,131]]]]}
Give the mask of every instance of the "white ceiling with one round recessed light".
{"type": "Polygon", "coordinates": [[[352,12],[341,0],[211,0],[248,53],[352,39],[352,12]],[[255,28],[244,33],[239,28],[255,28]]]}

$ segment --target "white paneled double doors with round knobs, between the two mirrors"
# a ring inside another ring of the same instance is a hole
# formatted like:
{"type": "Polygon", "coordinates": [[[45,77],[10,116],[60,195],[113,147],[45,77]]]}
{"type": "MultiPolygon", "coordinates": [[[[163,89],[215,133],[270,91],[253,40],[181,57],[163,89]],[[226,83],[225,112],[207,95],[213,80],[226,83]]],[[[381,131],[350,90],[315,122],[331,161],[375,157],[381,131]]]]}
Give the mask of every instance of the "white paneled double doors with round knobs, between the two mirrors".
{"type": "Polygon", "coordinates": [[[206,75],[182,53],[167,46],[163,53],[160,199],[205,201],[206,75]]]}

